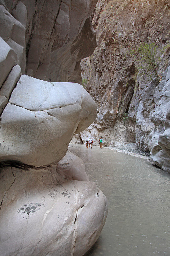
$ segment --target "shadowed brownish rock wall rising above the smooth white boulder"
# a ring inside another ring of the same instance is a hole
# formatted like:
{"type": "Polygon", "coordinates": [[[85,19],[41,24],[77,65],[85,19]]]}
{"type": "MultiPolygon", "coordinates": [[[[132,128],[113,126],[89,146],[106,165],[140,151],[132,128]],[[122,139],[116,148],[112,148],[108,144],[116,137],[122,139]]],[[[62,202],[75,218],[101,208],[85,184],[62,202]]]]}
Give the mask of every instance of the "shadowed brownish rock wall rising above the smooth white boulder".
{"type": "MultiPolygon", "coordinates": [[[[21,1],[3,2],[9,13],[23,12],[21,1]]],[[[76,80],[71,76],[80,71],[80,60],[92,54],[96,46],[89,17],[97,0],[23,0],[22,3],[28,16],[26,74],[53,82],[76,80]]],[[[79,72],[76,82],[80,81],[79,72]]]]}

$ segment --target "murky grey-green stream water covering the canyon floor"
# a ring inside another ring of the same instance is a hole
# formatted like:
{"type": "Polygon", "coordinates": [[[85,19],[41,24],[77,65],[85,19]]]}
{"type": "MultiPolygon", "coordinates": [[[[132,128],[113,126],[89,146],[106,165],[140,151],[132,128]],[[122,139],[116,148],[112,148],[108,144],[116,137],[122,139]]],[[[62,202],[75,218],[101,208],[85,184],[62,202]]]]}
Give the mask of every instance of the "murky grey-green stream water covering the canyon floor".
{"type": "Polygon", "coordinates": [[[144,159],[70,144],[107,196],[108,215],[89,256],[170,255],[170,175],[144,159]]]}

